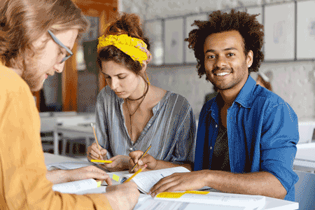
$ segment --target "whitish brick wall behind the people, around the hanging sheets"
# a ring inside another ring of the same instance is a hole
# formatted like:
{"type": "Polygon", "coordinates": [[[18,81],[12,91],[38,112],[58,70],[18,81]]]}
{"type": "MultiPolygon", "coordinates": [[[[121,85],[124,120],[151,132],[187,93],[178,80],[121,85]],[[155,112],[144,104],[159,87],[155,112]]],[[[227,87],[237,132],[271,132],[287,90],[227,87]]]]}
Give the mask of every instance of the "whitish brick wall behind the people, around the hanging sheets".
{"type": "MultiPolygon", "coordinates": [[[[168,18],[179,15],[200,13],[218,9],[258,6],[262,3],[279,3],[278,0],[217,0],[217,1],[164,1],[164,0],[124,0],[120,10],[137,13],[143,20],[168,18]]],[[[314,118],[315,62],[276,62],[262,63],[260,71],[272,72],[272,87],[276,94],[293,107],[299,119],[314,118]]],[[[196,118],[204,104],[204,97],[212,92],[211,83],[197,76],[195,65],[148,67],[149,78],[153,85],[182,94],[188,99],[196,118]]],[[[252,73],[257,78],[257,73],[252,73]]]]}

